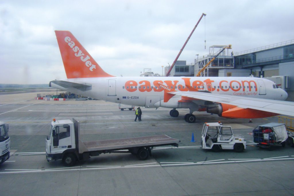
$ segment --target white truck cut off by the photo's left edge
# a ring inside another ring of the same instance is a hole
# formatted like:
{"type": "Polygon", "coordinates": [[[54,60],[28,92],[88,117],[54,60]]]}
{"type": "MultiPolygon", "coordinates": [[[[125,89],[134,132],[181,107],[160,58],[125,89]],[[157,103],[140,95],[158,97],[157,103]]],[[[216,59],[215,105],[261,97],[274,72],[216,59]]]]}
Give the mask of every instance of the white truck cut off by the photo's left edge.
{"type": "Polygon", "coordinates": [[[9,126],[0,122],[0,164],[10,157],[10,138],[8,135],[9,126]]]}

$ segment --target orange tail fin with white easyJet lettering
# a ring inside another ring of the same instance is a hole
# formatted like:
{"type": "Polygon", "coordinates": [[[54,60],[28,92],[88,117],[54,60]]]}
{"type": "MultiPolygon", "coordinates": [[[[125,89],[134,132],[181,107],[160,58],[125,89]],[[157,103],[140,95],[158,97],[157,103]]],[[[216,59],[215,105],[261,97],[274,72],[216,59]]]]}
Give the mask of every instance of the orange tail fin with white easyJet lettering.
{"type": "Polygon", "coordinates": [[[113,77],[103,71],[69,31],[55,31],[67,78],[113,77]]]}

